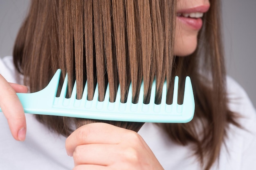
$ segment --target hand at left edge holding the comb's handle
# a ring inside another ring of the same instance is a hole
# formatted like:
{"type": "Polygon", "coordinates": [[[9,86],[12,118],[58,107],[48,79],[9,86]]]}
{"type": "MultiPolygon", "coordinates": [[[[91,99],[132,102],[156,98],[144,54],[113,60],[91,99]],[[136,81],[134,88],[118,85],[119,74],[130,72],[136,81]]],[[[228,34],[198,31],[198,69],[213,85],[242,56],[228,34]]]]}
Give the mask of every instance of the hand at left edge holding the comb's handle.
{"type": "Polygon", "coordinates": [[[28,88],[15,83],[8,83],[0,74],[0,107],[7,118],[14,139],[24,141],[26,119],[23,107],[16,92],[27,93],[28,88]]]}

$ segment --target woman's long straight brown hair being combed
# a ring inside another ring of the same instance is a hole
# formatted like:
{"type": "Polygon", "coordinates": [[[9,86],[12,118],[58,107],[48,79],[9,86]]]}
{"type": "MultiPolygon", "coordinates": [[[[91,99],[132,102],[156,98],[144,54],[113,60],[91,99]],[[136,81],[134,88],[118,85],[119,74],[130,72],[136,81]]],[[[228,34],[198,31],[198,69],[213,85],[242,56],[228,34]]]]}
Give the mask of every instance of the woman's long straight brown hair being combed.
{"type": "MultiPolygon", "coordinates": [[[[183,82],[186,75],[191,76],[194,119],[187,124],[158,125],[173,141],[195,144],[195,154],[204,169],[209,169],[218,158],[228,124],[236,124],[227,108],[220,2],[211,0],[211,8],[203,17],[198,48],[182,58],[173,54],[175,8],[175,0],[32,0],[16,39],[14,63],[31,92],[43,89],[61,68],[62,81],[66,73],[69,77],[69,95],[76,79],[78,99],[87,81],[88,100],[92,100],[94,90],[99,90],[98,100],[102,101],[108,83],[110,102],[115,101],[118,85],[121,102],[126,102],[131,82],[132,101],[136,103],[142,79],[144,102],[149,102],[155,78],[155,103],[159,103],[165,78],[169,88],[173,75],[179,75],[183,82]],[[99,89],[95,89],[96,83],[99,89]]],[[[65,136],[72,133],[73,124],[79,127],[99,121],[42,115],[36,118],[65,136]]],[[[107,122],[135,131],[143,125],[107,122]]]]}

